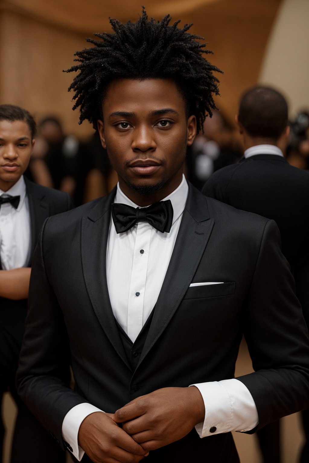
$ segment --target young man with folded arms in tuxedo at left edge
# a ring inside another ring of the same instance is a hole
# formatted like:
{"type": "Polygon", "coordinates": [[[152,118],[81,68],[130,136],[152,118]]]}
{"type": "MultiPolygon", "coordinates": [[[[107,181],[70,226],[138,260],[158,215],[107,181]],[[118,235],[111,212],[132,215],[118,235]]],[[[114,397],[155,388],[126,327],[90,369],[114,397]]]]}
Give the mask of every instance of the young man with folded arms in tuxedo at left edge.
{"type": "MultiPolygon", "coordinates": [[[[44,220],[67,211],[67,194],[35,185],[23,173],[36,125],[18,106],[0,105],[0,400],[10,390],[18,407],[11,462],[62,462],[64,452],[17,395],[15,375],[27,313],[32,255],[44,220]]],[[[1,448],[4,426],[1,420],[1,448]]]]}

